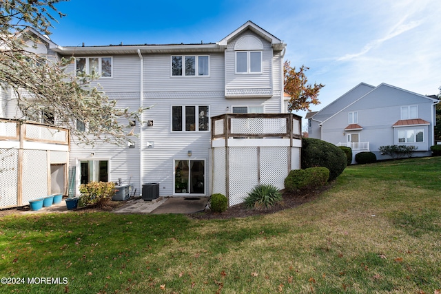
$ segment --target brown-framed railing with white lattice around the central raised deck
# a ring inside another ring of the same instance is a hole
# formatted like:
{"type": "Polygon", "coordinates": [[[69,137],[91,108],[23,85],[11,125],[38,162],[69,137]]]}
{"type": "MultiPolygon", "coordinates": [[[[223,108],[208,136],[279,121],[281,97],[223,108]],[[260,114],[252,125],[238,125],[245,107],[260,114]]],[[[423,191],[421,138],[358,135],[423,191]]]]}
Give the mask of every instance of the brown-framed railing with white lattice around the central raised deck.
{"type": "Polygon", "coordinates": [[[216,138],[300,139],[301,116],[296,114],[221,114],[212,117],[212,140],[216,138]]]}

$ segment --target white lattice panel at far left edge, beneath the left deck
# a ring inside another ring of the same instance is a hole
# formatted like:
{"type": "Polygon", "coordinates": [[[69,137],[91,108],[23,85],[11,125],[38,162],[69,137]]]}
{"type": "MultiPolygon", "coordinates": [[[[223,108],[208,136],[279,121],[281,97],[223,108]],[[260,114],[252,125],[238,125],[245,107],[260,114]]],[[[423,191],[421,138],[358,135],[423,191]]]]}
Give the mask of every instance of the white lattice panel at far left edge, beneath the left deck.
{"type": "Polygon", "coordinates": [[[17,149],[0,149],[0,207],[17,205],[17,149]]]}

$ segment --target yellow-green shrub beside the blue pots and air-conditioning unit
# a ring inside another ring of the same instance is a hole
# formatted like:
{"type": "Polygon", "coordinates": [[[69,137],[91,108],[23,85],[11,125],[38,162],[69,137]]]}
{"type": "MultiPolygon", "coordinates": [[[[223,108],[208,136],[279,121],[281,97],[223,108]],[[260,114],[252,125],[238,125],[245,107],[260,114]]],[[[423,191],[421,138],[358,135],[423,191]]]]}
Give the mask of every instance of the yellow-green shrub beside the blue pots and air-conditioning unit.
{"type": "Polygon", "coordinates": [[[80,201],[85,206],[102,204],[115,195],[114,182],[88,182],[80,186],[80,201]]]}

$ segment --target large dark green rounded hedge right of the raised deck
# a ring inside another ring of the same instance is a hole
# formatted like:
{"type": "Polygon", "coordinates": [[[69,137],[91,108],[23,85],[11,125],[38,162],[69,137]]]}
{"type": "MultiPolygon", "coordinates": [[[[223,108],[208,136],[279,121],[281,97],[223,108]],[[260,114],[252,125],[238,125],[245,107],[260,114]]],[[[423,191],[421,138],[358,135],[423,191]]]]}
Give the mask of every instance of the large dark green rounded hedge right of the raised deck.
{"type": "Polygon", "coordinates": [[[302,169],[326,167],[329,180],[335,180],[345,170],[347,157],[336,145],[314,138],[302,138],[302,169]]]}

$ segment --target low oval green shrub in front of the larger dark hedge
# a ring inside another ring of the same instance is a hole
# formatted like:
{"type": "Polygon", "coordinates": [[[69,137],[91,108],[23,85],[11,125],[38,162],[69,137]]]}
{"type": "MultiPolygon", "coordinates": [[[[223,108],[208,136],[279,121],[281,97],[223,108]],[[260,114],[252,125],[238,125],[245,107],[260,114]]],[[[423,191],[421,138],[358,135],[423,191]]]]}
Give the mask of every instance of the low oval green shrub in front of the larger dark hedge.
{"type": "Polygon", "coordinates": [[[289,171],[285,178],[285,189],[294,191],[311,191],[326,185],[329,179],[329,169],[326,167],[309,167],[289,171]]]}

